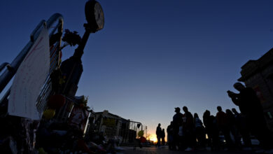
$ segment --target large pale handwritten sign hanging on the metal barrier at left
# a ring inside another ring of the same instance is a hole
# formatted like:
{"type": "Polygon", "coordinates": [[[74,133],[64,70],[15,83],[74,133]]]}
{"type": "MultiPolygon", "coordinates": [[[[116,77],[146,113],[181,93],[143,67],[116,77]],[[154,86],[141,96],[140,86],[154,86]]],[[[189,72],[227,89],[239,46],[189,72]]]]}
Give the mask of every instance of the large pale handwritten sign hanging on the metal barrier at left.
{"type": "Polygon", "coordinates": [[[40,119],[36,100],[48,76],[49,67],[49,36],[43,28],[15,74],[8,99],[10,115],[40,119]]]}

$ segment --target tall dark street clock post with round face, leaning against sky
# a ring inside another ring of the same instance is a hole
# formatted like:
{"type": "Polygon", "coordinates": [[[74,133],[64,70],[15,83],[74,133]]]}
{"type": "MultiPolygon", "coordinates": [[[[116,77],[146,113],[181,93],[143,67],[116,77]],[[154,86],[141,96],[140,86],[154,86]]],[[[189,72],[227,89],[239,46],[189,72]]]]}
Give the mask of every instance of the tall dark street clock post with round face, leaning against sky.
{"type": "Polygon", "coordinates": [[[62,73],[66,76],[66,83],[62,86],[61,93],[69,96],[74,96],[78,89],[78,82],[83,73],[81,57],[90,33],[95,33],[104,28],[104,13],[99,2],[90,0],[85,3],[85,18],[87,20],[87,24],[84,24],[85,34],[83,34],[78,48],[76,48],[73,56],[64,60],[60,66],[62,73]]]}

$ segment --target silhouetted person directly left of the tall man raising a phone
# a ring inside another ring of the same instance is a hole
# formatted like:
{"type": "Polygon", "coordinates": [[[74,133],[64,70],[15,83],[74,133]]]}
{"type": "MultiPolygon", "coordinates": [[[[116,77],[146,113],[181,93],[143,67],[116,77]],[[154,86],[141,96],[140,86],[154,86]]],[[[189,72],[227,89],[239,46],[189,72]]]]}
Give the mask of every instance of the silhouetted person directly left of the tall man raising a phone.
{"type": "Polygon", "coordinates": [[[250,138],[250,132],[249,128],[246,127],[246,122],[244,120],[244,117],[241,116],[240,113],[237,112],[236,109],[232,108],[232,112],[235,115],[235,125],[237,125],[237,128],[239,130],[239,133],[241,134],[241,138],[244,141],[244,148],[245,150],[251,150],[251,138],[250,138]]]}

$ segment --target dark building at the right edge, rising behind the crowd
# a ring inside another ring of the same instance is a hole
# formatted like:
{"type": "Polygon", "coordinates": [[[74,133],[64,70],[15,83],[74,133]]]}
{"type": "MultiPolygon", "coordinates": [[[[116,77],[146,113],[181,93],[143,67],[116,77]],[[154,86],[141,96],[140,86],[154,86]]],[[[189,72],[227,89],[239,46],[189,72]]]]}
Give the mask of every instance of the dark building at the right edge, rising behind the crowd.
{"type": "Polygon", "coordinates": [[[263,107],[269,130],[273,132],[273,48],[257,60],[241,66],[241,78],[246,87],[252,87],[263,107]]]}

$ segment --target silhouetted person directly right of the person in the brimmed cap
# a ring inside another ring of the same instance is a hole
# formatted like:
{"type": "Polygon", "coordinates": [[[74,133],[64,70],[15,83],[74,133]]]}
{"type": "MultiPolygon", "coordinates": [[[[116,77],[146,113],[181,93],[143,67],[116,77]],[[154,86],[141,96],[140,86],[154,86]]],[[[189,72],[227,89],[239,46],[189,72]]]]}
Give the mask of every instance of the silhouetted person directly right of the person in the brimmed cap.
{"type": "Polygon", "coordinates": [[[193,151],[193,148],[196,144],[195,134],[194,134],[194,127],[193,124],[193,115],[188,111],[186,106],[183,106],[183,111],[185,112],[185,117],[183,118],[185,121],[183,122],[183,132],[185,133],[186,139],[186,148],[185,151],[193,151]]]}

